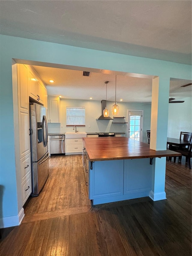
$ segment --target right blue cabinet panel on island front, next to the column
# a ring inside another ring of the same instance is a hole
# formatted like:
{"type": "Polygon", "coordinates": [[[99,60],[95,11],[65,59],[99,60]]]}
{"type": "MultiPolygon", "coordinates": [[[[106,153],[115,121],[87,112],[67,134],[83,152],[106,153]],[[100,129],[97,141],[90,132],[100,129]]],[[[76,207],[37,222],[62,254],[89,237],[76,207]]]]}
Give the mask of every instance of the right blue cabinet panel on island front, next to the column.
{"type": "Polygon", "coordinates": [[[131,198],[149,196],[152,186],[152,165],[149,158],[124,160],[124,195],[131,198]]]}

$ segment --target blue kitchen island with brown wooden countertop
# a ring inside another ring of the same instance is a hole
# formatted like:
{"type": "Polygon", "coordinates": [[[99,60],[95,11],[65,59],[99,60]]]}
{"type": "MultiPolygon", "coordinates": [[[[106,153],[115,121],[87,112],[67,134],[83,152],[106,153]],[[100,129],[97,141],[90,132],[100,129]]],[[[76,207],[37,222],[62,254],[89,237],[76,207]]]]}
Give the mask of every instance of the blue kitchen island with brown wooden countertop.
{"type": "Polygon", "coordinates": [[[127,137],[82,140],[86,185],[94,205],[146,196],[166,199],[165,158],[177,152],[155,151],[127,137]]]}

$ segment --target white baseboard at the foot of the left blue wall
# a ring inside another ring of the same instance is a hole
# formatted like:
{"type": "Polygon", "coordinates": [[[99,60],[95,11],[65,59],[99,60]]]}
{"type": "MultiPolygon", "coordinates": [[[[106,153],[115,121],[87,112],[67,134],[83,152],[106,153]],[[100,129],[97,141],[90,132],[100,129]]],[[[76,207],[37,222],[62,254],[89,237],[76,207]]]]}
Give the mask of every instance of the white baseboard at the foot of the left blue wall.
{"type": "Polygon", "coordinates": [[[24,209],[22,208],[18,215],[0,218],[0,228],[19,226],[24,216],[24,209]]]}

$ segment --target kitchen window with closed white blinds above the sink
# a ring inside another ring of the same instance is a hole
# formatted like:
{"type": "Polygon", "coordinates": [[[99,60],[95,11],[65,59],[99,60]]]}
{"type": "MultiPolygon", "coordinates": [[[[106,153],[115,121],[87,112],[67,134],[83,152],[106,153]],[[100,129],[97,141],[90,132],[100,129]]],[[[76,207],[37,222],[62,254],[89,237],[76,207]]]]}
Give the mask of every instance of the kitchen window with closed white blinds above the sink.
{"type": "Polygon", "coordinates": [[[66,125],[85,126],[85,107],[66,107],[66,125]]]}

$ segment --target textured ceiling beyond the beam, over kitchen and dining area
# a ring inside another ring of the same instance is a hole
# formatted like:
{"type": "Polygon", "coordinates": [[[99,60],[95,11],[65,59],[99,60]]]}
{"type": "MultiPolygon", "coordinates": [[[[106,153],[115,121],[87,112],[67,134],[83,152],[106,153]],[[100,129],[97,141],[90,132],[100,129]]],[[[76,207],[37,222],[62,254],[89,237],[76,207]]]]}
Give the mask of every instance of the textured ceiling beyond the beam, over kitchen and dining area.
{"type": "MultiPolygon", "coordinates": [[[[122,99],[124,102],[151,101],[152,78],[130,77],[127,73],[111,71],[110,74],[91,72],[89,77],[83,77],[83,71],[33,66],[35,71],[47,85],[48,95],[61,96],[66,99],[105,100],[107,84],[107,100],[115,101],[115,79],[116,101],[122,99]],[[52,79],[55,82],[50,83],[52,79]]],[[[88,71],[88,70],[86,70],[88,71]]],[[[170,97],[177,100],[191,97],[192,86],[180,87],[190,83],[190,80],[171,79],[170,97]]]]}

